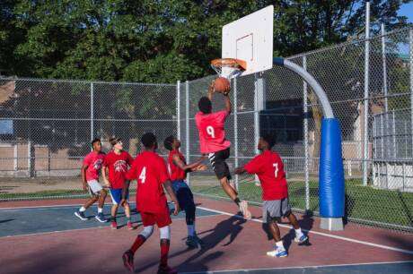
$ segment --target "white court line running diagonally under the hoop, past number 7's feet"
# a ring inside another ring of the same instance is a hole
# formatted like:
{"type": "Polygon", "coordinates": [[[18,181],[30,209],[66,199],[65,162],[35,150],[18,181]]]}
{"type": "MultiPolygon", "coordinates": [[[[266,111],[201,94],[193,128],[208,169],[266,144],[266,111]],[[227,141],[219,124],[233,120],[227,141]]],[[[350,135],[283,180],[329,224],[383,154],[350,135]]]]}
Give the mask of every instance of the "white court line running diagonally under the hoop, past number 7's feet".
{"type": "MultiPolygon", "coordinates": [[[[216,213],[221,213],[223,215],[232,216],[232,217],[235,217],[235,218],[242,218],[239,215],[233,215],[233,213],[229,213],[229,212],[225,212],[225,211],[221,211],[221,210],[212,210],[212,209],[207,209],[207,208],[203,208],[203,207],[198,207],[198,209],[214,211],[216,213]]],[[[254,221],[254,222],[262,223],[262,220],[260,220],[258,218],[252,218],[251,220],[254,221]]],[[[279,227],[291,228],[290,226],[283,225],[283,224],[278,224],[278,226],[279,227]]],[[[392,246],[383,245],[383,244],[373,244],[373,243],[370,243],[370,242],[360,241],[360,240],[347,238],[347,237],[343,237],[343,236],[339,236],[339,235],[331,235],[331,234],[322,233],[322,232],[319,232],[319,231],[312,231],[312,230],[306,230],[306,229],[303,229],[303,231],[306,231],[308,233],[312,233],[312,234],[315,234],[315,235],[323,235],[323,236],[326,236],[326,237],[330,237],[330,238],[334,238],[334,239],[338,239],[338,240],[343,240],[343,241],[347,241],[347,242],[351,242],[351,243],[365,244],[365,245],[378,247],[378,248],[382,248],[382,249],[386,249],[386,250],[391,250],[391,251],[395,251],[395,252],[399,252],[399,253],[406,253],[406,254],[413,255],[413,251],[410,251],[410,250],[407,250],[407,249],[401,249],[401,248],[392,247],[392,246]]]]}

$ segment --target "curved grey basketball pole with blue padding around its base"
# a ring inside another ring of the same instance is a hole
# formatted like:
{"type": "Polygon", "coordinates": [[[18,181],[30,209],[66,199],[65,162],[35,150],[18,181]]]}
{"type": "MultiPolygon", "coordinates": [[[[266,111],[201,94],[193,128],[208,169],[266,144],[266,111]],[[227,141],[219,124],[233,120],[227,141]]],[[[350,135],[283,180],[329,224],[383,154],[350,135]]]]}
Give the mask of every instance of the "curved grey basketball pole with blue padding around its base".
{"type": "Polygon", "coordinates": [[[324,117],[321,121],[319,170],[320,227],[328,230],[343,230],[345,193],[339,121],[334,117],[326,92],[312,74],[284,58],[274,58],[273,64],[283,66],[300,75],[312,87],[321,103],[324,117]]]}

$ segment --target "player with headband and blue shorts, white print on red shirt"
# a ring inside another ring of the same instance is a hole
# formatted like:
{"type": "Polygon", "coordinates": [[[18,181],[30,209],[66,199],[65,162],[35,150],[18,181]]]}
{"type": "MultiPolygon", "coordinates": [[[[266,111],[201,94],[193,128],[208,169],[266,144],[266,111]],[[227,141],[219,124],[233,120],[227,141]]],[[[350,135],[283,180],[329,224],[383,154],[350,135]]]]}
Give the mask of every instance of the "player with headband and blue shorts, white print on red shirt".
{"type": "MultiPolygon", "coordinates": [[[[106,155],[103,161],[102,175],[106,185],[110,186],[110,197],[112,198],[112,209],[110,210],[110,227],[118,229],[116,215],[122,199],[123,184],[126,181],[127,170],[132,166],[133,158],[123,150],[123,143],[119,138],[110,138],[112,150],[106,155]]],[[[128,193],[126,199],[128,199],[128,193]]],[[[130,207],[126,201],[122,206],[125,208],[127,216],[127,229],[132,230],[132,221],[130,219],[130,207]]]]}

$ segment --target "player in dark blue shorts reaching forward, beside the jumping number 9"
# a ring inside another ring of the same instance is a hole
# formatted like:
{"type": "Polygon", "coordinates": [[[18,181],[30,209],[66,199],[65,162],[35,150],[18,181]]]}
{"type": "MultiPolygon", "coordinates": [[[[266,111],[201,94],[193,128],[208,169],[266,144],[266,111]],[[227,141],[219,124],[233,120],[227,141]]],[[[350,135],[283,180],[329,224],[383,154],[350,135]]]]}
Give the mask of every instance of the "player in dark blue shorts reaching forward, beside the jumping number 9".
{"type": "Polygon", "coordinates": [[[187,165],[185,157],[180,153],[180,141],[173,136],[169,136],[163,141],[165,149],[170,150],[168,157],[168,170],[171,177],[172,188],[180,203],[180,209],[185,210],[185,220],[188,228],[188,238],[185,242],[189,247],[202,247],[204,243],[198,238],[195,230],[195,202],[194,196],[185,182],[187,173],[196,170],[204,170],[202,165],[204,158],[200,158],[195,163],[187,165]]]}

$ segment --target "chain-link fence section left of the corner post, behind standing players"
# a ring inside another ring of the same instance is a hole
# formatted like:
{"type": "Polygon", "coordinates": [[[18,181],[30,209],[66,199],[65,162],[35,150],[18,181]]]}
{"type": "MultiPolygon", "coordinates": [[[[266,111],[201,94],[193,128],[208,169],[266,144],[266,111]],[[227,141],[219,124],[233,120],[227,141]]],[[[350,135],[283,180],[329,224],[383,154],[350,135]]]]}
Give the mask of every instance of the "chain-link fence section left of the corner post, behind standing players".
{"type": "Polygon", "coordinates": [[[83,197],[80,167],[93,138],[108,151],[117,136],[135,156],[143,133],[177,132],[175,85],[1,79],[0,89],[3,201],[83,197]]]}

